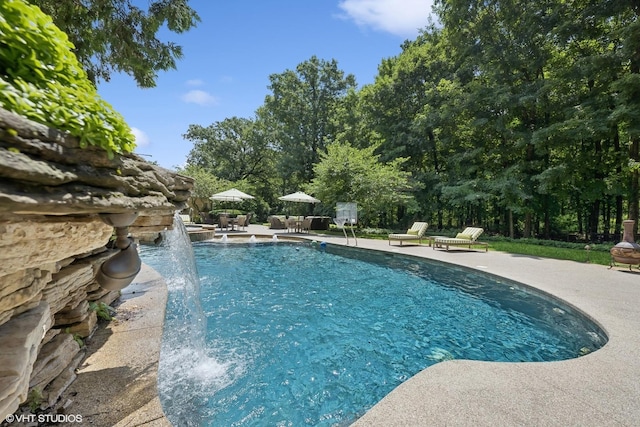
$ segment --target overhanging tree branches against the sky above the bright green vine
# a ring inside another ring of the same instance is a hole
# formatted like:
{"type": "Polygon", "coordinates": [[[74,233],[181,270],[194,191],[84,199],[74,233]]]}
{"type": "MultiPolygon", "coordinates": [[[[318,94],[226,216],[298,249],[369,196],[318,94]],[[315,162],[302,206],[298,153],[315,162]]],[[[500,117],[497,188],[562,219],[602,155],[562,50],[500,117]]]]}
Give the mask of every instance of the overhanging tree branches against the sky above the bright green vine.
{"type": "Polygon", "coordinates": [[[133,76],[140,87],[154,87],[158,71],[176,68],[182,48],[156,35],[164,25],[174,33],[200,21],[188,0],[155,0],[148,11],[130,0],[28,0],[51,15],[74,44],[74,53],[97,85],[112,72],[133,76]]]}

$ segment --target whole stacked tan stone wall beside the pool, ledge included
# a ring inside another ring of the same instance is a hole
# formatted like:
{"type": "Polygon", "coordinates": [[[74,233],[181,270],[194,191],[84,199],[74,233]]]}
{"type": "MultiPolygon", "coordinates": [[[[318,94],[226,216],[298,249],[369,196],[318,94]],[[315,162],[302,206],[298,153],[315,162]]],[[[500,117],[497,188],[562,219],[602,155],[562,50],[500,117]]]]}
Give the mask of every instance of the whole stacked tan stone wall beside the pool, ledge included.
{"type": "Polygon", "coordinates": [[[77,139],[0,108],[0,420],[55,404],[75,378],[116,251],[99,214],[138,212],[147,240],[173,224],[193,180],[135,155],[109,159],[77,139]]]}

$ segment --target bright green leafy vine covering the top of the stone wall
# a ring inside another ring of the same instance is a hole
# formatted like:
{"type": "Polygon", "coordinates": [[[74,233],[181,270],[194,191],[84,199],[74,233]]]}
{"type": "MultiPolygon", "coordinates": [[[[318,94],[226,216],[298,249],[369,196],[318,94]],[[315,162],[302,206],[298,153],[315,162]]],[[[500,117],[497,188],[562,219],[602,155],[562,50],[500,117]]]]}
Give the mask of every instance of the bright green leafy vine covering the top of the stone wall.
{"type": "Polygon", "coordinates": [[[135,148],[124,118],[98,96],[51,17],[22,0],[0,1],[0,106],[69,132],[80,146],[135,148]]]}

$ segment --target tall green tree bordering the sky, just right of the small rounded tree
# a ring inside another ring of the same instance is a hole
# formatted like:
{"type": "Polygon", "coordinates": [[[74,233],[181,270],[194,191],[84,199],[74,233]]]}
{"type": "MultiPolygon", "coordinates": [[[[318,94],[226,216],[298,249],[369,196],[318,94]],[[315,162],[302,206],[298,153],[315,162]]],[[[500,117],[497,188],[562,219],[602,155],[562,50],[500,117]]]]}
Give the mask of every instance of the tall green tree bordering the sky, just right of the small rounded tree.
{"type": "MultiPolygon", "coordinates": [[[[361,122],[370,127],[368,140],[378,144],[383,161],[408,159],[403,168],[425,189],[414,196],[425,214],[437,211],[442,227],[443,141],[456,135],[453,129],[461,117],[446,101],[462,92],[452,84],[454,63],[441,30],[428,28],[402,49],[397,57],[383,60],[375,82],[361,90],[361,122]]],[[[405,221],[402,209],[398,215],[405,221]]]]}

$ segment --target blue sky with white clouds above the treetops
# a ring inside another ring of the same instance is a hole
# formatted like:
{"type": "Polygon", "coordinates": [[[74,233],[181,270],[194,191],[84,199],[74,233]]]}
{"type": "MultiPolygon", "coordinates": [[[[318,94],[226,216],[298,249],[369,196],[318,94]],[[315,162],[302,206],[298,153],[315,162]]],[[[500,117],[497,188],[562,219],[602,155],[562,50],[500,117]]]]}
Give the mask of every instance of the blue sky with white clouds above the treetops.
{"type": "Polygon", "coordinates": [[[191,0],[201,18],[183,34],[159,38],[183,48],[177,70],[156,87],[112,75],[100,96],[131,127],[136,153],[167,169],[183,166],[193,146],[189,125],[254,118],[270,94],[269,76],[312,56],[335,59],[358,87],[373,83],[385,58],[427,26],[433,0],[191,0]]]}

